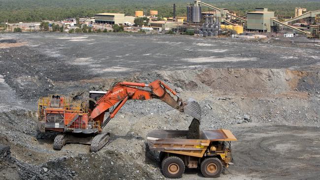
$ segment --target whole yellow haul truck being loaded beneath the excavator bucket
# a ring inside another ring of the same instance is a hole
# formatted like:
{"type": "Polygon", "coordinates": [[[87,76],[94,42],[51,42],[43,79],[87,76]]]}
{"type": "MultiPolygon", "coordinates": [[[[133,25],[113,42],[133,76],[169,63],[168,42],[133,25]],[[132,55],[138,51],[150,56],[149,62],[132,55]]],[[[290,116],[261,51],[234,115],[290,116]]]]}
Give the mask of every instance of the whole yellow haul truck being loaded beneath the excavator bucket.
{"type": "Polygon", "coordinates": [[[206,178],[217,178],[233,165],[231,141],[237,139],[225,129],[200,131],[199,139],[186,139],[188,130],[154,130],[147,134],[150,150],[160,151],[162,173],[181,178],[185,168],[200,167],[206,178]]]}

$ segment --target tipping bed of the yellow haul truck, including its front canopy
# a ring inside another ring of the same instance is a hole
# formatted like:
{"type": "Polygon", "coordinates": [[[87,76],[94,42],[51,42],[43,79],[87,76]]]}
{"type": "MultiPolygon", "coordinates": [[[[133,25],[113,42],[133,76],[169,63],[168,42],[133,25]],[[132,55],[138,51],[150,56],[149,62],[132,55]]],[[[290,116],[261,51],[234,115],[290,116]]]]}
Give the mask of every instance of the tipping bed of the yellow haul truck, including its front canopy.
{"type": "Polygon", "coordinates": [[[236,141],[225,129],[200,131],[200,139],[187,139],[188,130],[154,130],[147,134],[151,150],[202,157],[210,142],[236,141]]]}

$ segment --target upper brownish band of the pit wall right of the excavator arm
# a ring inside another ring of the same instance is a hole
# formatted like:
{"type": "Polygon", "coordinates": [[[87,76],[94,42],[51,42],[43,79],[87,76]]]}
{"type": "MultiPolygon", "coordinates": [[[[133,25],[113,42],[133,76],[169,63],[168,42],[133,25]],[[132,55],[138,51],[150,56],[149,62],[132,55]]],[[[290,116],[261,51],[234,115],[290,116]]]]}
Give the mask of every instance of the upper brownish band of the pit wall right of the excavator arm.
{"type": "Polygon", "coordinates": [[[160,71],[164,80],[185,90],[204,93],[261,93],[267,95],[291,90],[319,90],[319,71],[256,68],[207,68],[195,71],[160,71]],[[304,84],[309,82],[307,89],[304,84]]]}

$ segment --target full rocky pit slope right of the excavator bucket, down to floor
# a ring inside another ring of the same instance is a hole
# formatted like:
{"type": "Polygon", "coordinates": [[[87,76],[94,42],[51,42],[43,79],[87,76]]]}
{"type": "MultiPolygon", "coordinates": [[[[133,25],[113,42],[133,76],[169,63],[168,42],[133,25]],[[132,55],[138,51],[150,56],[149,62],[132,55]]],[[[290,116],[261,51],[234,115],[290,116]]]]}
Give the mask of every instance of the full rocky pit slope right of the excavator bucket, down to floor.
{"type": "Polygon", "coordinates": [[[319,69],[215,69],[160,72],[200,101],[202,129],[254,122],[319,126],[319,69]]]}

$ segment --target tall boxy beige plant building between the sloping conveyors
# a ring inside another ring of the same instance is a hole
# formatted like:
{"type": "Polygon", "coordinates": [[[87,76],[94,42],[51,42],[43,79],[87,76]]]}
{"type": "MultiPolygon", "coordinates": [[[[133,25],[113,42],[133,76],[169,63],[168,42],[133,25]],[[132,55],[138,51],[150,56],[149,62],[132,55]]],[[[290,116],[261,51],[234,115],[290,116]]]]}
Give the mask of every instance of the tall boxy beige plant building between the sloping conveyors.
{"type": "Polygon", "coordinates": [[[256,8],[256,11],[247,13],[247,30],[271,32],[273,18],[274,12],[267,8],[256,8]]]}

